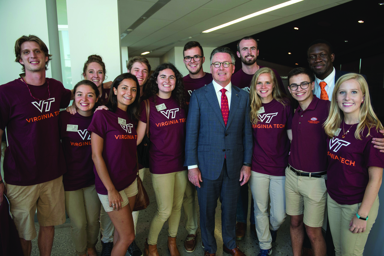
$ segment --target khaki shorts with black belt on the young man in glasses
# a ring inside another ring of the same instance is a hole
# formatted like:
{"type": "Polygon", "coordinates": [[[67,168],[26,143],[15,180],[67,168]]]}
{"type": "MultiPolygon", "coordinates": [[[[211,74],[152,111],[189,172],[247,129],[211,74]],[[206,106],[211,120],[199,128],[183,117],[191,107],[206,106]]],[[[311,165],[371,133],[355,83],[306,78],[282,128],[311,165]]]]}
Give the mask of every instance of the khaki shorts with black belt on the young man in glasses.
{"type": "Polygon", "coordinates": [[[323,226],[327,202],[325,180],[321,178],[297,176],[289,167],[285,168],[285,210],[288,215],[304,213],[304,223],[317,228],[323,226]]]}

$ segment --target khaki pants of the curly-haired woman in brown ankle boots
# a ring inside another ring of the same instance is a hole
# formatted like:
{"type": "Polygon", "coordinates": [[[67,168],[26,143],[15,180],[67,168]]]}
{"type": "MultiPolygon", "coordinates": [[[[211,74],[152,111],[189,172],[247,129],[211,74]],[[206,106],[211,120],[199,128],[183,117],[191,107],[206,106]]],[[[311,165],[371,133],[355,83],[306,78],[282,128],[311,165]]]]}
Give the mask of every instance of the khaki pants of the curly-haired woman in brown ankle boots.
{"type": "Polygon", "coordinates": [[[149,225],[148,244],[156,245],[157,237],[168,220],[168,235],[175,237],[179,228],[181,205],[188,171],[167,174],[152,174],[152,185],[156,196],[157,211],[149,225]]]}

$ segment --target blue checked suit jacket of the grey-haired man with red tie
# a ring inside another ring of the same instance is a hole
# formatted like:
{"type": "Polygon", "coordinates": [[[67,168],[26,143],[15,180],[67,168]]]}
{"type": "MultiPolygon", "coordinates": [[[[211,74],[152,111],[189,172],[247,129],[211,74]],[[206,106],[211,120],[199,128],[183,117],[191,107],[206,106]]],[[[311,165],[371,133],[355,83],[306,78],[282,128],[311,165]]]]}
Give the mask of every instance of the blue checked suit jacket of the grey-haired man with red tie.
{"type": "Polygon", "coordinates": [[[205,179],[218,179],[224,156],[231,179],[238,179],[243,163],[252,160],[249,94],[233,85],[231,94],[227,127],[212,82],[190,98],[184,166],[197,164],[205,179]]]}

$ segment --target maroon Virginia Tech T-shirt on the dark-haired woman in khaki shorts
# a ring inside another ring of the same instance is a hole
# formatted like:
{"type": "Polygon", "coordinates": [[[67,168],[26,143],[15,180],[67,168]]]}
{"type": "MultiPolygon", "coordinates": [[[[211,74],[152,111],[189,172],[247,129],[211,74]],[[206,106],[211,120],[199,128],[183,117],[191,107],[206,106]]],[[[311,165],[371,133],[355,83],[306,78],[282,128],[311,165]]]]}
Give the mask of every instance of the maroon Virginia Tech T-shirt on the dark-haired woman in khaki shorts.
{"type": "MultiPolygon", "coordinates": [[[[127,112],[120,108],[117,108],[115,113],[98,110],[93,114],[88,131],[104,139],[102,156],[115,189],[121,191],[129,187],[137,176],[137,133],[135,124],[127,112]]],[[[95,166],[93,172],[96,192],[108,195],[95,166]]]]}

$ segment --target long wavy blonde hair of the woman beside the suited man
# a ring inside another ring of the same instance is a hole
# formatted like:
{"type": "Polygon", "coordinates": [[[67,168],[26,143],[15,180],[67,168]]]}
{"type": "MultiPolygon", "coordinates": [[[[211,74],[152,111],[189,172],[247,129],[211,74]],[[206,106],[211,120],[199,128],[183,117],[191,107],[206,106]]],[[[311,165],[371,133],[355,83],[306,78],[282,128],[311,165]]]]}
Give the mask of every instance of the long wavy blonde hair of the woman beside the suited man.
{"type": "Polygon", "coordinates": [[[257,124],[259,121],[257,112],[262,107],[262,100],[260,99],[260,96],[256,92],[256,83],[261,74],[270,74],[271,79],[273,81],[273,90],[272,90],[272,97],[283,104],[284,108],[288,104],[288,98],[285,97],[283,92],[280,89],[280,86],[277,82],[275,72],[273,72],[272,69],[269,67],[262,67],[256,73],[253,75],[251,87],[249,89],[249,97],[250,97],[250,105],[251,105],[251,111],[249,113],[251,123],[257,124]]]}

